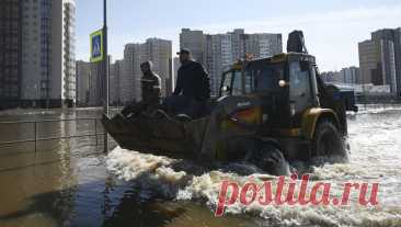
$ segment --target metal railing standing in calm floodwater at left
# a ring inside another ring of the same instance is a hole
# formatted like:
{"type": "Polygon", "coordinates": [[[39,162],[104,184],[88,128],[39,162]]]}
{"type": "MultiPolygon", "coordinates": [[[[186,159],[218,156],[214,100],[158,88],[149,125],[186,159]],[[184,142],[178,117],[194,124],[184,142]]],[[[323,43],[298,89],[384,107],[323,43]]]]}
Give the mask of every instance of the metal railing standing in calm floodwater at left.
{"type": "Polygon", "coordinates": [[[106,132],[98,133],[98,121],[99,118],[67,118],[67,120],[42,120],[42,121],[18,121],[18,122],[0,122],[0,125],[19,125],[19,124],[31,124],[33,126],[34,138],[32,139],[23,139],[23,140],[11,140],[11,141],[0,141],[0,146],[8,145],[16,145],[22,143],[35,143],[35,152],[37,151],[37,143],[38,141],[48,141],[48,140],[57,140],[57,139],[71,139],[71,138],[82,138],[82,137],[96,137],[96,146],[98,146],[98,136],[104,136],[106,132]],[[43,123],[57,123],[57,122],[78,122],[78,121],[93,121],[94,124],[94,134],[84,134],[84,135],[68,135],[68,136],[54,136],[54,137],[38,137],[38,125],[43,123]]]}

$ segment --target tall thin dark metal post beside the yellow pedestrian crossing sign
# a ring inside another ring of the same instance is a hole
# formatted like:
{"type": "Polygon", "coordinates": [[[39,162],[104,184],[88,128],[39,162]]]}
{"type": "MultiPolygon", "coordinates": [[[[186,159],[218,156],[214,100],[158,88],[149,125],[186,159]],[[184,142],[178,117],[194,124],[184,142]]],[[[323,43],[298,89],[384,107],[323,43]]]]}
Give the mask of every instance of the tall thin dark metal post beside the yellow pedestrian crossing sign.
{"type": "MultiPolygon", "coordinates": [[[[108,116],[108,52],[107,52],[107,0],[103,0],[103,76],[105,91],[103,92],[103,111],[108,116]]],[[[108,136],[104,130],[104,152],[108,151],[108,136]]]]}

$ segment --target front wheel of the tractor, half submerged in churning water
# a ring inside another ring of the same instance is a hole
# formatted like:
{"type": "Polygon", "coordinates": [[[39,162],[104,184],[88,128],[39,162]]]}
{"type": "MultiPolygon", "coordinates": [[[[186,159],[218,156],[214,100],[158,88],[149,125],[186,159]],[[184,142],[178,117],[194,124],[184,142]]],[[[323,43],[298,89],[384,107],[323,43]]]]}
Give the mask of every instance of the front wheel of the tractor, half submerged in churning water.
{"type": "Polygon", "coordinates": [[[272,175],[289,175],[289,163],[283,152],[270,144],[252,152],[251,162],[272,175]]]}

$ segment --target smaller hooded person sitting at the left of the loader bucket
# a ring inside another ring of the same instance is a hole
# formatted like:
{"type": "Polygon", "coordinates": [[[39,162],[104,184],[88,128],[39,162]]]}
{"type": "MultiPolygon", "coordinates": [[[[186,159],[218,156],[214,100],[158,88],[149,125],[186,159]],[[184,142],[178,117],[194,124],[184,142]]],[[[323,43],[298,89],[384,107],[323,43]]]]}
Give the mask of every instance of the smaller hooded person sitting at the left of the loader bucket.
{"type": "Polygon", "coordinates": [[[144,73],[141,84],[141,98],[140,102],[125,107],[122,114],[126,117],[133,117],[139,113],[150,113],[160,106],[161,101],[161,79],[160,76],[153,72],[153,64],[148,60],[140,65],[140,69],[144,73]]]}

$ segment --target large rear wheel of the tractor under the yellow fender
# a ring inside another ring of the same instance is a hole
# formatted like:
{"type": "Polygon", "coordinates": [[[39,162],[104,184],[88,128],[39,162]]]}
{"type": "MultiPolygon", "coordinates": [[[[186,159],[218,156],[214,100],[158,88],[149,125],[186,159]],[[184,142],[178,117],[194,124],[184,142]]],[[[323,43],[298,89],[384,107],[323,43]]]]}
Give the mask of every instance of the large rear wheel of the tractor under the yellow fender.
{"type": "Polygon", "coordinates": [[[312,157],[344,156],[344,139],[331,121],[321,121],[314,133],[312,157]]]}

